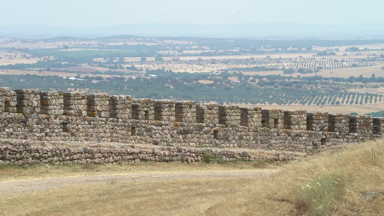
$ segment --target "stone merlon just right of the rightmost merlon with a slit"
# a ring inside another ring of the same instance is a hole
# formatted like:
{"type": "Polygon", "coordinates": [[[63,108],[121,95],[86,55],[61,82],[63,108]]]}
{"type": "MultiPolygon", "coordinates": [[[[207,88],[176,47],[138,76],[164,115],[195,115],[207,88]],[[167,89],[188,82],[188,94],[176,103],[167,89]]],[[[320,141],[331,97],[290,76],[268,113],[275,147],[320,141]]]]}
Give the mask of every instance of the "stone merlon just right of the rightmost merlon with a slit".
{"type": "Polygon", "coordinates": [[[307,130],[307,111],[284,111],[284,128],[290,130],[307,130]]]}

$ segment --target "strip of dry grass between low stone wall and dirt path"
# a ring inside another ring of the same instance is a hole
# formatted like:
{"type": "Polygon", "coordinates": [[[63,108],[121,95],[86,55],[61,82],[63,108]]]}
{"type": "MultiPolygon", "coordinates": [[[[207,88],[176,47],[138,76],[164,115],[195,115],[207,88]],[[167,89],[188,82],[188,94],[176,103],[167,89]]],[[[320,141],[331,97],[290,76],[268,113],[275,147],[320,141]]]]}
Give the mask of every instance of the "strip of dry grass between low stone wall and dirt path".
{"type": "Polygon", "coordinates": [[[260,168],[275,169],[277,166],[256,166],[255,163],[193,163],[184,162],[156,163],[142,162],[140,164],[69,164],[58,166],[56,164],[33,164],[31,166],[0,165],[0,182],[77,177],[89,175],[115,175],[115,174],[144,174],[144,173],[212,173],[234,171],[262,171],[260,168]]]}

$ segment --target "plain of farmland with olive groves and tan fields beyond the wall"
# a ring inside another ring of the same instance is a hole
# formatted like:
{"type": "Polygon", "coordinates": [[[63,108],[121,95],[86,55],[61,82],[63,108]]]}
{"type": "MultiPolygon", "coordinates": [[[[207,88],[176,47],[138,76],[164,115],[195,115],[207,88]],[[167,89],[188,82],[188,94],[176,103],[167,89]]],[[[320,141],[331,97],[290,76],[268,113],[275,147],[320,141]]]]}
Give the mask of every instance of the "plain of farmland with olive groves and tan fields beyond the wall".
{"type": "Polygon", "coordinates": [[[359,114],[384,110],[380,38],[3,38],[0,51],[0,85],[11,88],[359,114]],[[62,79],[68,76],[85,80],[62,79]]]}

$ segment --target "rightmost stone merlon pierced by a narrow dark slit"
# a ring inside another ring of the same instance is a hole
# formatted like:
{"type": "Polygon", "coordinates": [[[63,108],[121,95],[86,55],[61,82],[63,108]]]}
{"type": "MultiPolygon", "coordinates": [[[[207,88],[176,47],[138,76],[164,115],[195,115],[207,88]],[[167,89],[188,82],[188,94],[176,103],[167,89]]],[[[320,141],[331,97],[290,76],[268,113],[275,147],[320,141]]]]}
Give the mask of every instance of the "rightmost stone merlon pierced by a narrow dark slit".
{"type": "Polygon", "coordinates": [[[283,109],[262,110],[262,127],[284,128],[283,109]]]}

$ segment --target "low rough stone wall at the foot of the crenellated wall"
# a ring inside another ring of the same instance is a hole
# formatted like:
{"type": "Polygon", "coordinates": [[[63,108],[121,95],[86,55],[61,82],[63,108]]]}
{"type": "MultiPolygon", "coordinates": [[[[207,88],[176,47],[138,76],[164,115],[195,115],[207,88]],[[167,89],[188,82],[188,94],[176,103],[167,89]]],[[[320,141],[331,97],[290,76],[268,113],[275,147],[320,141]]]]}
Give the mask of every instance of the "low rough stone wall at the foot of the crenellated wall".
{"type": "MultiPolygon", "coordinates": [[[[140,163],[141,161],[202,162],[205,156],[221,158],[223,161],[287,161],[295,160],[297,153],[257,152],[250,150],[220,150],[201,148],[175,148],[147,146],[61,147],[49,146],[50,142],[0,140],[0,164],[23,165],[36,163],[85,164],[85,163],[140,163]],[[48,146],[47,146],[48,145],[48,146]]],[[[57,145],[57,144],[56,144],[57,145]]]]}

